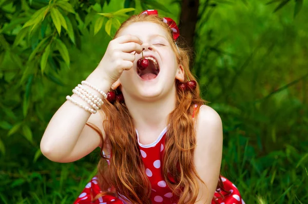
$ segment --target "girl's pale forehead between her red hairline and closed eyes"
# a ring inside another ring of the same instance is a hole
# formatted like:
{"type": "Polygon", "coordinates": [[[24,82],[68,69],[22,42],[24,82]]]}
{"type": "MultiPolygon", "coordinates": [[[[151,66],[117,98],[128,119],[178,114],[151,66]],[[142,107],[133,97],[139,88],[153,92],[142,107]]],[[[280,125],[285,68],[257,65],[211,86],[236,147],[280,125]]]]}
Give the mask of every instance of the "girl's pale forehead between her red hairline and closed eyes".
{"type": "Polygon", "coordinates": [[[141,40],[145,40],[146,38],[163,36],[167,38],[167,32],[162,26],[152,23],[152,22],[136,22],[132,23],[126,28],[124,28],[119,36],[121,35],[136,35],[141,40]]]}

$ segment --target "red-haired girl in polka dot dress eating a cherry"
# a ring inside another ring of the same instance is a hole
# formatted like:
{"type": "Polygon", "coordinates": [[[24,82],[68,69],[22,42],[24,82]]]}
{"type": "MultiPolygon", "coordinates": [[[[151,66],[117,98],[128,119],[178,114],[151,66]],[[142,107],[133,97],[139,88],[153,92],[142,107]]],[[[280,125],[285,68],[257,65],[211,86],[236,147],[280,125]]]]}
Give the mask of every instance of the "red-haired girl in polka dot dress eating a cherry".
{"type": "Polygon", "coordinates": [[[131,16],[52,117],[41,141],[50,160],[102,150],[98,175],[74,204],[244,203],[219,176],[221,119],[204,105],[179,43],[171,18],[131,16]]]}

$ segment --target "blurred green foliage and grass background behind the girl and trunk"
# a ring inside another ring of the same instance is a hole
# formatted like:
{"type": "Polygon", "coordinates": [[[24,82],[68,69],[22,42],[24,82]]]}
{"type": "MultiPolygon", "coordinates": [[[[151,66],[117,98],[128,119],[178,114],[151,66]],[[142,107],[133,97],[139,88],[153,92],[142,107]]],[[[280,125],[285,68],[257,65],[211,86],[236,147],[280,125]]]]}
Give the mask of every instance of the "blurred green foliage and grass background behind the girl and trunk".
{"type": "MultiPolygon", "coordinates": [[[[157,9],[179,23],[183,2],[0,1],[0,203],[73,202],[99,149],[48,160],[50,118],[128,15],[157,9]]],[[[191,70],[223,121],[222,174],[246,203],[308,203],[308,1],[203,0],[198,10],[191,70]]]]}

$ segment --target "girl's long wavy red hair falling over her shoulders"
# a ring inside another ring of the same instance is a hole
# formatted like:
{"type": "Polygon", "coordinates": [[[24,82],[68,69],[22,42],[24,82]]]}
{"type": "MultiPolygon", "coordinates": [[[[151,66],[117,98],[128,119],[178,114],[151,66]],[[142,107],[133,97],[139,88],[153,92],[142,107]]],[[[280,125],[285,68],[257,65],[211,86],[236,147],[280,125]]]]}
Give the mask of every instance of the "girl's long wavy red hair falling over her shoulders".
{"type": "MultiPolygon", "coordinates": [[[[185,81],[188,80],[188,77],[189,80],[196,80],[189,70],[189,49],[184,48],[184,40],[181,36],[177,39],[177,48],[172,38],[172,30],[162,22],[161,17],[156,15],[132,15],[121,25],[114,38],[124,28],[136,22],[152,22],[165,29],[168,33],[166,37],[176,55],[177,62],[185,69],[185,81]]],[[[180,81],[175,79],[176,87],[178,87],[179,83],[180,81]]],[[[195,203],[199,190],[196,178],[203,182],[196,172],[193,159],[196,148],[196,132],[192,112],[194,105],[197,104],[196,120],[199,107],[205,103],[207,101],[200,97],[198,84],[193,91],[183,92],[177,88],[176,108],[168,115],[169,128],[166,132],[164,150],[164,155],[168,156],[163,157],[163,176],[168,187],[175,195],[179,196],[178,203],[180,204],[195,203]],[[168,177],[170,175],[173,178],[172,180],[168,177]]],[[[103,192],[95,196],[93,200],[106,194],[114,195],[107,191],[108,188],[114,187],[117,193],[125,196],[132,203],[151,203],[151,184],[145,174],[136,129],[129,110],[125,103],[115,101],[114,104],[110,104],[106,100],[100,111],[106,118],[103,121],[106,141],[104,141],[102,132],[96,126],[90,123],[87,123],[87,125],[100,135],[102,139],[101,150],[103,150],[104,144],[108,144],[111,157],[103,155],[101,151],[102,158],[98,165],[98,178],[103,192]],[[107,165],[106,159],[109,160],[109,165],[107,165]]],[[[221,179],[217,188],[223,189],[221,179]]],[[[208,197],[208,199],[211,198],[208,197]]]]}

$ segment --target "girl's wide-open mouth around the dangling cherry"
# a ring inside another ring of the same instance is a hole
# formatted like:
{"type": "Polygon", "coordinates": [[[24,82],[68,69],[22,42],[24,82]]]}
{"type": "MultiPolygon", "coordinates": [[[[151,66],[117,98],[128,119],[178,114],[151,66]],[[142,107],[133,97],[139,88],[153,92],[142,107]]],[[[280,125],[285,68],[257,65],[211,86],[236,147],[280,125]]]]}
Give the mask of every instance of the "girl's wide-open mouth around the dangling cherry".
{"type": "Polygon", "coordinates": [[[148,60],[149,65],[144,70],[137,67],[137,74],[143,79],[156,78],[160,71],[157,60],[151,56],[144,57],[144,59],[148,60]]]}

